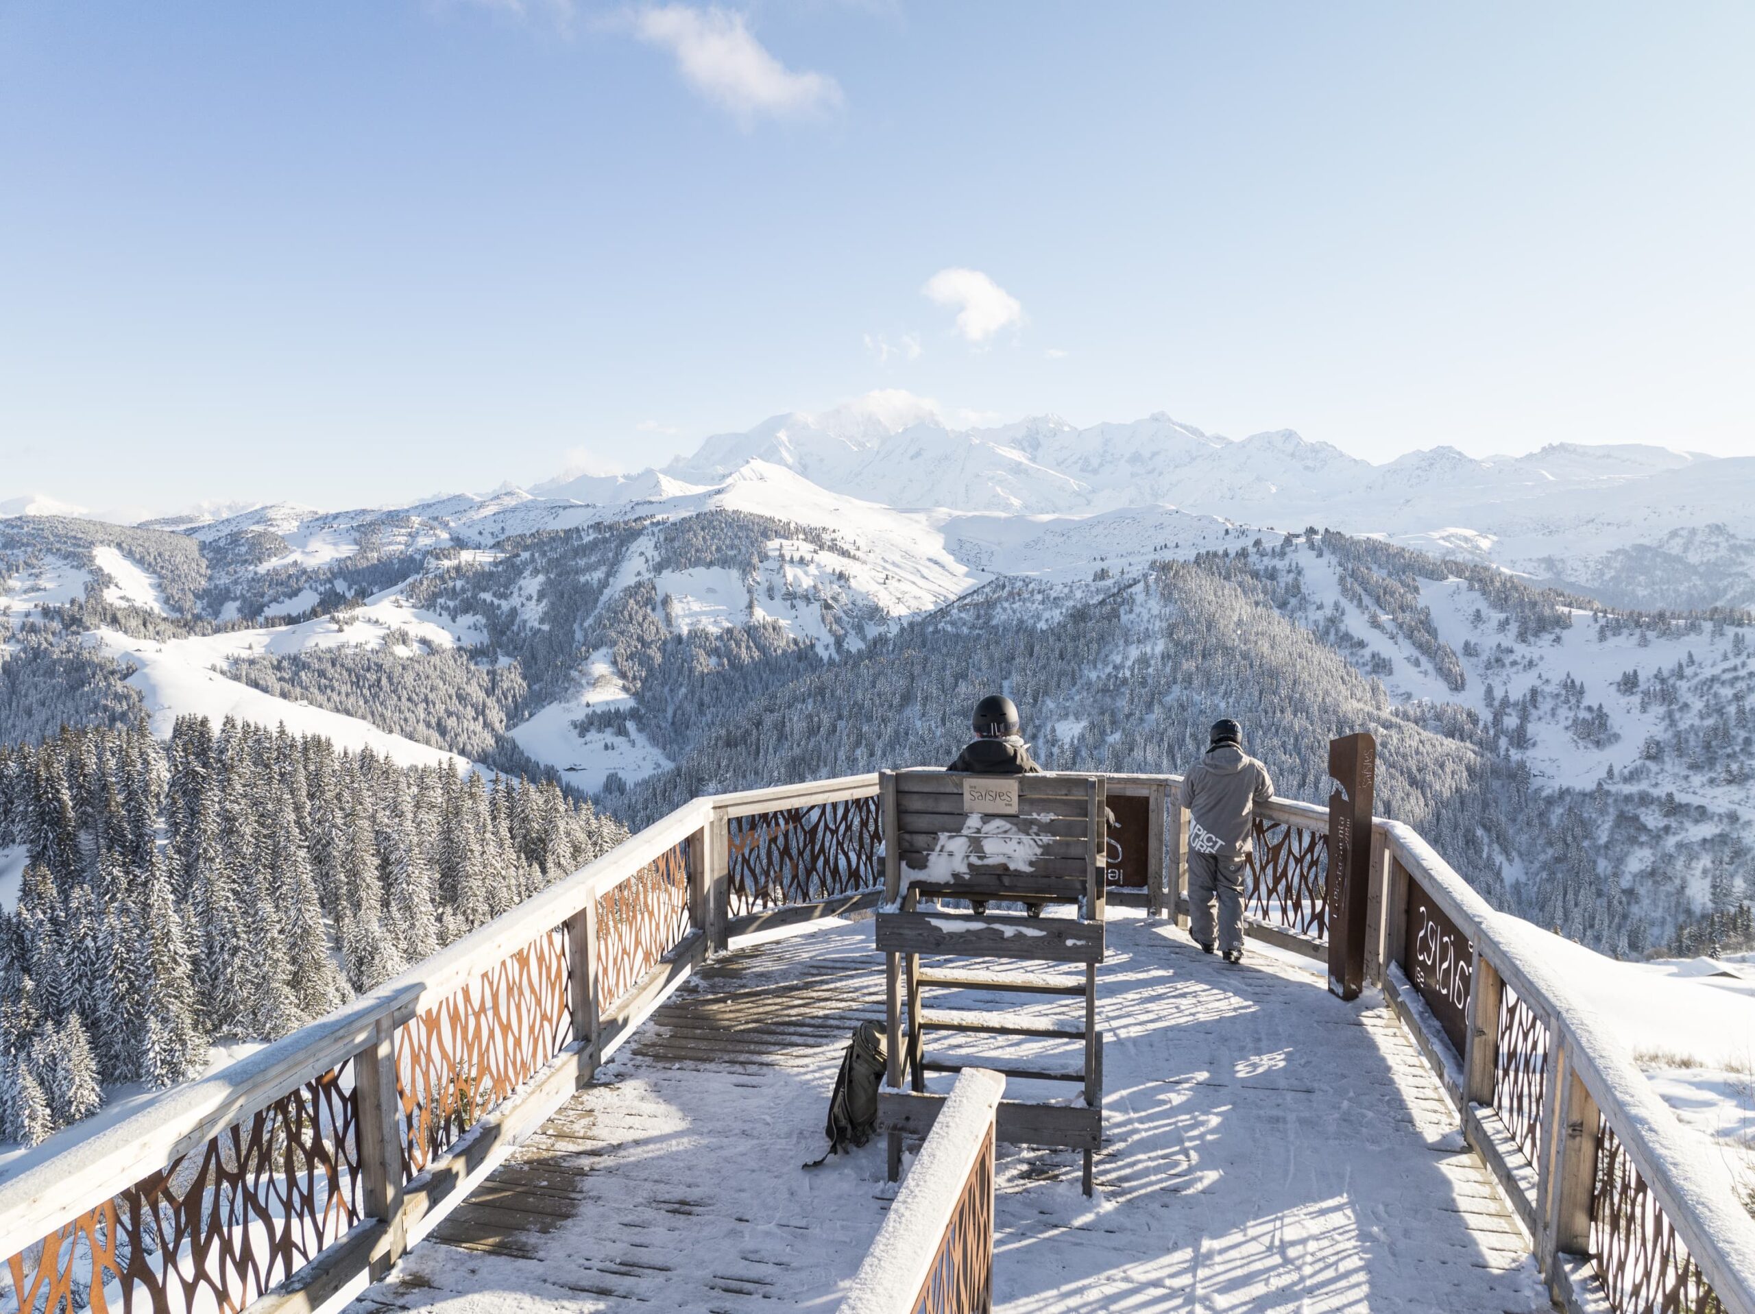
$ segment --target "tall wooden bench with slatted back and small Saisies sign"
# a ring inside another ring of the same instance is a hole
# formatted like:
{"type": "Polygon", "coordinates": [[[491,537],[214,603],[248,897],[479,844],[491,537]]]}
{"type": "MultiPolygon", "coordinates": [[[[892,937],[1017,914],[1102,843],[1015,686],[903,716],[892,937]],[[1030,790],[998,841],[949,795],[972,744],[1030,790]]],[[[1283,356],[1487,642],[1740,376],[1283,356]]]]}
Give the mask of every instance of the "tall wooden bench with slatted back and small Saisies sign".
{"type": "Polygon", "coordinates": [[[1006,1100],[999,1139],[1085,1153],[1085,1193],[1102,1140],[1102,1035],[1097,1030],[1097,963],[1104,954],[1106,803],[1099,775],[963,775],[900,770],[879,775],[885,835],[885,902],[878,949],[886,954],[890,1067],[879,1123],[890,1135],[890,1179],[902,1165],[902,1137],[923,1135],[944,1096],[927,1093],[927,1074],[965,1063],[927,1053],[927,1033],[1027,1035],[1081,1042],[1081,1061],[995,1063],[971,1060],[1014,1081],[1083,1086],[1085,1103],[1006,1100]],[[946,907],[946,900],[953,907],[946,907]],[[971,903],[963,907],[963,900],[971,903]],[[921,903],[925,902],[925,907],[921,903]],[[992,911],[1025,903],[1025,911],[992,911]],[[1078,916],[1032,916],[1049,905],[1078,916]],[[979,912],[976,909],[981,909],[979,912]],[[1078,963],[1069,974],[1023,974],[955,967],[921,968],[923,956],[1078,963]],[[1065,1018],[1021,1010],[925,1007],[923,993],[983,991],[1023,1000],[1064,996],[1083,1009],[1065,1018]],[[904,1079],[911,1089],[904,1091],[904,1079]]]}

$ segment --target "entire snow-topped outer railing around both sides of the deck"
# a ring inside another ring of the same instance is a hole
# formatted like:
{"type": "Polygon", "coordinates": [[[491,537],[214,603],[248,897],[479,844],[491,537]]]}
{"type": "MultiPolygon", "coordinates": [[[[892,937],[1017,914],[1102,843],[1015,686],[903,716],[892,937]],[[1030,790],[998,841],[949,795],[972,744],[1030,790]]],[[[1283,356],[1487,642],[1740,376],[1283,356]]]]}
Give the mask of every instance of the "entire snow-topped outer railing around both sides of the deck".
{"type": "MultiPolygon", "coordinates": [[[[1148,796],[1146,902],[1176,911],[1179,777],[1107,781],[1111,796],[1148,796]]],[[[878,777],[858,775],[697,798],[319,1023],[109,1128],[56,1137],[0,1181],[0,1305],[279,1314],[381,1275],[709,951],[876,903],[876,793],[878,777]]],[[[1325,872],[1327,812],[1272,800],[1251,935],[1322,956],[1325,872]]],[[[1755,1221],[1730,1170],[1680,1135],[1530,928],[1381,818],[1367,893],[1365,975],[1462,1109],[1555,1296],[1578,1310],[1755,1314],[1755,1221]]],[[[985,1209],[990,1247],[990,1196],[985,1209]]],[[[956,1235],[979,1258],[974,1232],[956,1235]]],[[[969,1272],[962,1256],[944,1263],[969,1272]]]]}

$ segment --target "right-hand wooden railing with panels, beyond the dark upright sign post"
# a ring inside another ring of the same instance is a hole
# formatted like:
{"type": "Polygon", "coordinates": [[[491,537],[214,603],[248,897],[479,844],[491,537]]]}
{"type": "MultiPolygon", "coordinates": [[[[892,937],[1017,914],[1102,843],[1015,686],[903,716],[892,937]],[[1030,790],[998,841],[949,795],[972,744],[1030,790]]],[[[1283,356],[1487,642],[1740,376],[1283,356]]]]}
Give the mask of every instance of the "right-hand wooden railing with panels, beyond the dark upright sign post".
{"type": "Polygon", "coordinates": [[[1755,1314],[1755,1219],[1539,932],[1397,821],[1372,825],[1367,970],[1569,1310],[1755,1314]]]}

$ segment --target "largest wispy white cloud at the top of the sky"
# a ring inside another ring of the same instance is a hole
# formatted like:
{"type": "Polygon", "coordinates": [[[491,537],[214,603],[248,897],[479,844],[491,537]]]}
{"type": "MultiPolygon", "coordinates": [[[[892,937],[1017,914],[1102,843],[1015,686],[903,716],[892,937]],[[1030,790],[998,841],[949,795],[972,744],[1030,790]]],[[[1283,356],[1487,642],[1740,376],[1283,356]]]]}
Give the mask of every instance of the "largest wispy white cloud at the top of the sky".
{"type": "Polygon", "coordinates": [[[651,5],[630,14],[634,35],[676,56],[677,72],[744,128],[758,118],[816,114],[841,105],[828,74],[793,72],[755,39],[742,14],[693,5],[651,5]]]}

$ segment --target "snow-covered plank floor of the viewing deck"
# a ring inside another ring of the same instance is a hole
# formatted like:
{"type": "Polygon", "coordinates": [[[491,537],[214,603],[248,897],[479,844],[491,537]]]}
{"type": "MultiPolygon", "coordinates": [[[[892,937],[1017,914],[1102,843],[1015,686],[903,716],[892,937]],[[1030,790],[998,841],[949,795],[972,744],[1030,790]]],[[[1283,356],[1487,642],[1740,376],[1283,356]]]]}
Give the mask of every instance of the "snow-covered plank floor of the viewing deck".
{"type": "MultiPolygon", "coordinates": [[[[1109,944],[1097,1196],[1078,1156],[1000,1147],[997,1309],[1548,1309],[1381,998],[1127,912],[1109,944]]],[[[799,1165],[881,981],[870,923],[718,960],[355,1314],[832,1309],[893,1188],[881,1140],[799,1165]]]]}

